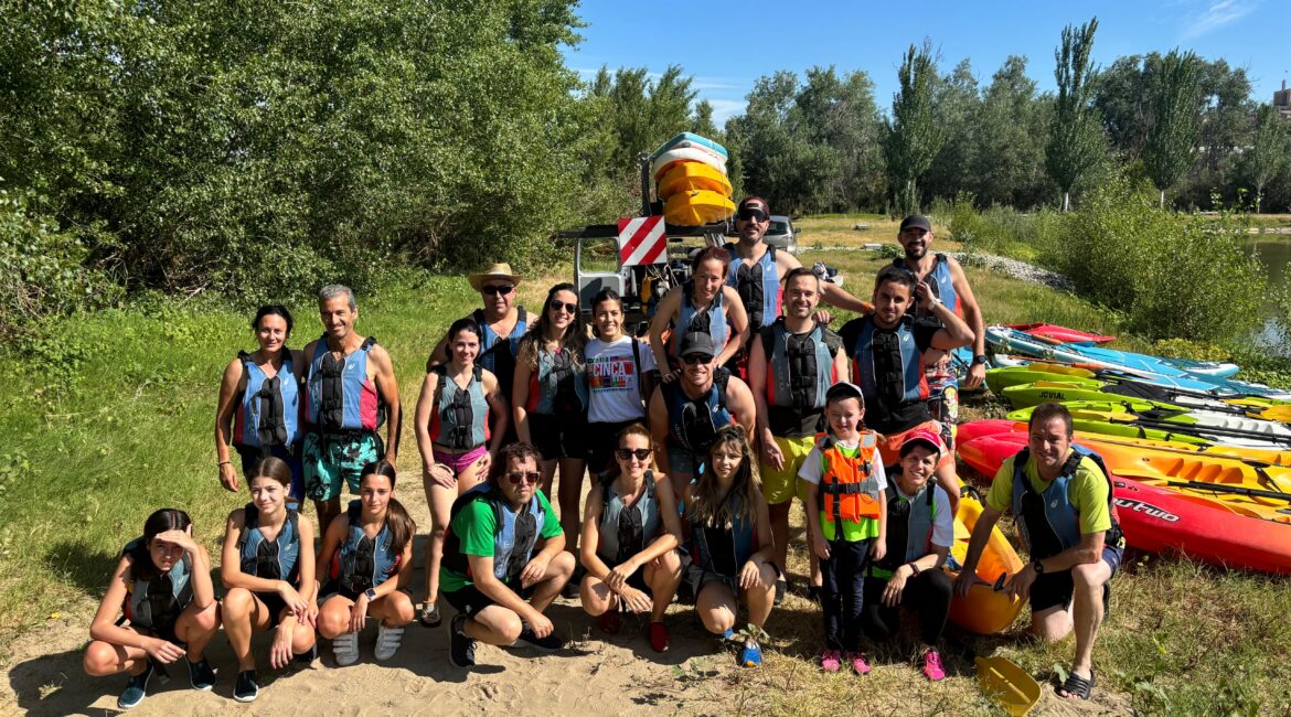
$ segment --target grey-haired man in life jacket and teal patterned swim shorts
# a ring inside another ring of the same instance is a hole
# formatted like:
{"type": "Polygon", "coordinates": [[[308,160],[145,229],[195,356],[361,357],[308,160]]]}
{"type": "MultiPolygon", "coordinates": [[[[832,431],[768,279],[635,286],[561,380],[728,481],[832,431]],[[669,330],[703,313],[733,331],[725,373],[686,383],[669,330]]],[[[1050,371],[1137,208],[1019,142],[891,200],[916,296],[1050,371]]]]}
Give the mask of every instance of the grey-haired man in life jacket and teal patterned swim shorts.
{"type": "Polygon", "coordinates": [[[319,290],[323,335],[305,347],[307,433],[302,445],[305,493],[319,525],[341,515],[342,482],[358,495],[363,467],[399,453],[399,386],[385,347],[354,331],[359,308],[341,284],[319,290]],[[386,426],[386,442],[377,431],[386,426]]]}

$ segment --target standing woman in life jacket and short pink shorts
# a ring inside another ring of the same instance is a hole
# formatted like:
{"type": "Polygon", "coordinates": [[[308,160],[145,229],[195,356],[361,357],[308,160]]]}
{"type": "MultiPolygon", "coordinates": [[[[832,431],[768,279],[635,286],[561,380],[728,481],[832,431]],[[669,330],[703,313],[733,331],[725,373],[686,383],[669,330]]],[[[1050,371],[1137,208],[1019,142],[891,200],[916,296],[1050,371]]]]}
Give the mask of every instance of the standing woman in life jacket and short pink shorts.
{"type": "Polygon", "coordinates": [[[426,373],[417,398],[417,450],[422,487],[430,506],[426,540],[426,600],[420,618],[439,627],[439,561],[444,555],[448,511],[458,495],[488,475],[510,420],[497,377],[475,362],[484,337],[474,319],[458,319],[444,339],[445,358],[426,373]]]}

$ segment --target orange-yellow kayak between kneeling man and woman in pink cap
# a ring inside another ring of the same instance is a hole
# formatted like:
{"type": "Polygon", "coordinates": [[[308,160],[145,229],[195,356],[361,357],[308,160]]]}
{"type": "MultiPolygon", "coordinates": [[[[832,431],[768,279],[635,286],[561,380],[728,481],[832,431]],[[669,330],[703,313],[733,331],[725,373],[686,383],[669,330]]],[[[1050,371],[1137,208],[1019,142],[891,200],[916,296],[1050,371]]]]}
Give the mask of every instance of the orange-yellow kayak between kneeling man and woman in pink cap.
{"type": "MultiPolygon", "coordinates": [[[[972,529],[981,516],[981,503],[972,495],[963,495],[959,499],[959,509],[955,513],[955,542],[950,547],[950,556],[954,565],[963,565],[964,556],[968,555],[968,539],[972,529]]],[[[1008,543],[1008,538],[995,526],[990,531],[990,539],[977,561],[977,576],[988,584],[976,584],[968,589],[968,597],[955,596],[950,601],[950,622],[977,634],[995,634],[1008,629],[1017,619],[1017,613],[1022,609],[1022,600],[1010,597],[1003,591],[995,591],[994,585],[1001,576],[1007,575],[1008,582],[1022,569],[1022,560],[1008,543]]],[[[958,570],[949,566],[945,571],[953,580],[959,575],[958,570]]]]}

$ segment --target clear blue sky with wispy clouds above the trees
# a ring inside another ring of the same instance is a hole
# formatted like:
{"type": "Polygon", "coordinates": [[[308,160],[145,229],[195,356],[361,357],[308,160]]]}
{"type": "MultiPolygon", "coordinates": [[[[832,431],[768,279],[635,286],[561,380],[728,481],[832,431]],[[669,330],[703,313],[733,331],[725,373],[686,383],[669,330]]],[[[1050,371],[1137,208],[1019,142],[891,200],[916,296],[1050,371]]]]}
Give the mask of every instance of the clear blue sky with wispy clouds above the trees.
{"type": "Polygon", "coordinates": [[[600,66],[680,64],[718,123],[744,108],[759,76],[802,74],[834,64],[865,70],[880,108],[892,103],[901,54],[924,37],[941,53],[941,70],[972,61],[979,83],[1010,54],[1026,55],[1028,75],[1053,89],[1053,48],[1065,25],[1099,18],[1095,61],[1184,48],[1207,59],[1246,67],[1252,95],[1270,102],[1291,83],[1291,0],[1122,0],[1051,3],[897,0],[886,3],[584,0],[584,41],[565,50],[567,64],[594,74],[600,66]]]}

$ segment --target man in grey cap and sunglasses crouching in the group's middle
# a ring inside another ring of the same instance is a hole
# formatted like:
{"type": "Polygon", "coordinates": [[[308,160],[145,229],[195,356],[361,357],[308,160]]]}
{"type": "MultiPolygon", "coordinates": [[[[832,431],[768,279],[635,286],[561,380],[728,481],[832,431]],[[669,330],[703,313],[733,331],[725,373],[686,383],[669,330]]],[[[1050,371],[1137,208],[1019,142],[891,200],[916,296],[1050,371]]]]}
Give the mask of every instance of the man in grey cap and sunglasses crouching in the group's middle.
{"type": "Polygon", "coordinates": [[[718,428],[738,423],[753,435],[757,405],[749,384],[714,366],[717,348],[709,334],[682,337],[679,355],[682,379],[660,384],[651,396],[649,431],[655,462],[682,495],[696,468],[707,459],[718,428]]]}

